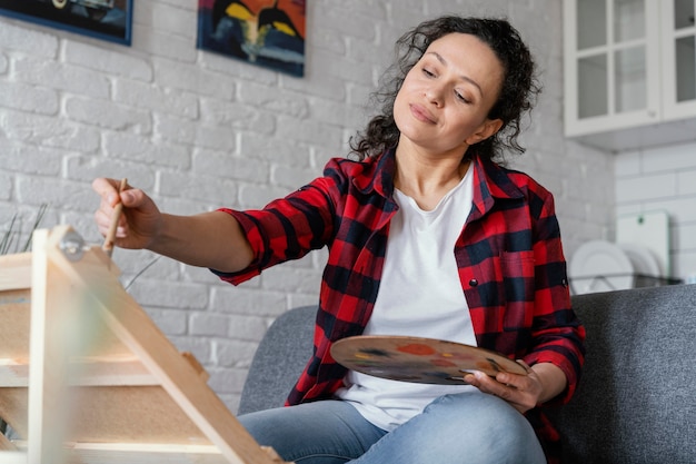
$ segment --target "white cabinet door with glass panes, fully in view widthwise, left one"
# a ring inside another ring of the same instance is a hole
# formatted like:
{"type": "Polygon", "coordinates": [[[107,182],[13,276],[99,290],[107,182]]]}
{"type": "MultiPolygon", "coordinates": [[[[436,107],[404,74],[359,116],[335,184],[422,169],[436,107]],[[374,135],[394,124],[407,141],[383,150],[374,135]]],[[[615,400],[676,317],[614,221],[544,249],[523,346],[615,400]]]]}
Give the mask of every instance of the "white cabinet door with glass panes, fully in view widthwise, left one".
{"type": "Polygon", "coordinates": [[[659,1],[564,0],[566,135],[659,120],[659,1]]]}

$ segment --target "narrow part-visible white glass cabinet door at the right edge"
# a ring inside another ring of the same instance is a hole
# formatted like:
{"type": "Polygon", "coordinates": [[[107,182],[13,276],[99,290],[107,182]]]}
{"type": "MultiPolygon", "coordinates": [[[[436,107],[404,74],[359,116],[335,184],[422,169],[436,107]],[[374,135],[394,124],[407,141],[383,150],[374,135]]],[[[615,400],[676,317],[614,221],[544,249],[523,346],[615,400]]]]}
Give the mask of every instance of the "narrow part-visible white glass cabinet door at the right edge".
{"type": "Polygon", "coordinates": [[[662,17],[664,118],[696,115],[696,0],[666,0],[662,17]]]}

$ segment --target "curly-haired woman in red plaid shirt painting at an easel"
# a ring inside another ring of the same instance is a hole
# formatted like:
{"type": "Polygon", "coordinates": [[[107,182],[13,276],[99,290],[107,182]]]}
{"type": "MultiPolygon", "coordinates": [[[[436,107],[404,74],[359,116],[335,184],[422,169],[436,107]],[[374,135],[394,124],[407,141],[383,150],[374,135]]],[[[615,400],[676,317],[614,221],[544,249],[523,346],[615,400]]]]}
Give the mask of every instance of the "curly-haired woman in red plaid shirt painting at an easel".
{"type": "MultiPolygon", "coordinates": [[[[382,111],[352,140],[358,160],[264,210],[160,214],[120,194],[116,245],[216,269],[239,284],[327,246],[315,353],[288,406],[239,419],[298,463],[543,463],[558,436],[540,409],[570,398],[584,328],[570,308],[551,195],[494,162],[517,144],[537,88],[505,20],[444,17],[398,41],[382,111]],[[461,386],[348,372],[331,344],[358,334],[417,335],[494,349],[528,374],[476,372],[461,386]]],[[[108,230],[118,194],[97,179],[108,230]]]]}

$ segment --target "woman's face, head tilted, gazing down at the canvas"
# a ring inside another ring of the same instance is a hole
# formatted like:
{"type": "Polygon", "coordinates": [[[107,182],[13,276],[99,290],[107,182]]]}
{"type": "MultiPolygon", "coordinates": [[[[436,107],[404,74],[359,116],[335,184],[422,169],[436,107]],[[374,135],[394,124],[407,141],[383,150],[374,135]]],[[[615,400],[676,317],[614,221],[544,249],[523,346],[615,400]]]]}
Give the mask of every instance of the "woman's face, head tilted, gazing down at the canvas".
{"type": "Polygon", "coordinates": [[[477,37],[449,33],[435,40],[406,75],[394,102],[405,138],[432,155],[464,155],[494,135],[499,119],[487,115],[498,98],[503,66],[477,37]]]}

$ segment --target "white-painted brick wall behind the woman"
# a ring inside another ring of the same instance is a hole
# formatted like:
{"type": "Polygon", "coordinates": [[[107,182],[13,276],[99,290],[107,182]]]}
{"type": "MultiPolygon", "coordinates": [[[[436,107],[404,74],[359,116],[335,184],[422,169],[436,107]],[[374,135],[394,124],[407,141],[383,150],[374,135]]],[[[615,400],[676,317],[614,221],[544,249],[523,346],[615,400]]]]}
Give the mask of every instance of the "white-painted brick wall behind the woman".
{"type": "MultiPolygon", "coordinates": [[[[132,47],[0,18],[0,226],[17,213],[28,228],[49,203],[44,226],[101,243],[97,176],[127,177],[175,214],[260,207],[346,155],[398,36],[460,12],[507,16],[537,56],[545,92],[514,166],[556,195],[566,254],[612,228],[614,158],[563,138],[558,0],[310,0],[302,79],[197,50],[193,0],[135,4],[132,47]]],[[[113,259],[128,283],[153,256],[113,259]]],[[[235,411],[266,327],[316,303],[325,259],[317,251],[239,287],[159,259],[129,292],[235,411]]]]}

